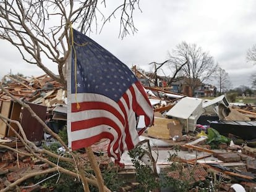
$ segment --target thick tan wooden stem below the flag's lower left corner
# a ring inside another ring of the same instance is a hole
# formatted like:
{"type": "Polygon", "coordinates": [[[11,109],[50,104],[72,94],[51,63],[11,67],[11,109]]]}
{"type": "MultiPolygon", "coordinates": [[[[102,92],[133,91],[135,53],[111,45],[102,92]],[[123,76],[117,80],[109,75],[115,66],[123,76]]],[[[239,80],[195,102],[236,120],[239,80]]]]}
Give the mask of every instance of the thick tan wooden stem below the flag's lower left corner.
{"type": "Polygon", "coordinates": [[[96,159],[94,157],[93,151],[91,147],[85,148],[86,153],[88,154],[88,159],[90,160],[93,171],[95,172],[96,179],[98,181],[98,188],[100,192],[104,192],[104,181],[101,175],[100,167],[96,163],[96,159]]]}

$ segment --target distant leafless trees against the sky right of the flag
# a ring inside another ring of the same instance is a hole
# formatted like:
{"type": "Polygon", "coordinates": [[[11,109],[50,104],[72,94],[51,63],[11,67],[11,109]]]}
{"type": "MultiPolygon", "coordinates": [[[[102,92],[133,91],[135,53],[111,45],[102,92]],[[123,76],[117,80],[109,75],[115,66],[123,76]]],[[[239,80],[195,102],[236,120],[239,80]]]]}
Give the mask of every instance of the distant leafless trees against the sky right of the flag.
{"type": "MultiPolygon", "coordinates": [[[[248,49],[246,59],[248,62],[256,64],[256,44],[248,49]]],[[[200,83],[213,82],[213,80],[216,81],[213,85],[218,88],[219,94],[235,91],[238,95],[252,95],[256,88],[256,74],[252,74],[250,75],[252,88],[241,85],[232,89],[228,72],[222,69],[218,62],[215,63],[213,57],[208,52],[203,51],[200,46],[189,44],[186,41],[178,44],[175,49],[168,52],[168,60],[162,63],[151,62],[150,64],[158,65],[155,67],[155,78],[157,77],[157,71],[161,67],[168,65],[173,74],[172,77],[168,78],[168,85],[179,81],[181,77],[187,77],[186,83],[193,93],[200,86],[200,83]]],[[[155,81],[155,84],[157,85],[157,81],[155,81]]]]}

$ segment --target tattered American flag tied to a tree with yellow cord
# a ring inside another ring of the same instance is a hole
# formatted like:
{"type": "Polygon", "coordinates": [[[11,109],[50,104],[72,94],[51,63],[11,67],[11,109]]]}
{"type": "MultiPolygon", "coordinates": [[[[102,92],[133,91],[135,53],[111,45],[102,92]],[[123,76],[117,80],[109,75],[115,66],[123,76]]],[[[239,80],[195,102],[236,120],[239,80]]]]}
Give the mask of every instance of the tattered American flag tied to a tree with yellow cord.
{"type": "Polygon", "coordinates": [[[136,117],[153,124],[153,108],[134,73],[95,41],[73,30],[69,64],[67,133],[72,150],[108,138],[108,155],[118,162],[122,152],[139,142],[136,117]]]}

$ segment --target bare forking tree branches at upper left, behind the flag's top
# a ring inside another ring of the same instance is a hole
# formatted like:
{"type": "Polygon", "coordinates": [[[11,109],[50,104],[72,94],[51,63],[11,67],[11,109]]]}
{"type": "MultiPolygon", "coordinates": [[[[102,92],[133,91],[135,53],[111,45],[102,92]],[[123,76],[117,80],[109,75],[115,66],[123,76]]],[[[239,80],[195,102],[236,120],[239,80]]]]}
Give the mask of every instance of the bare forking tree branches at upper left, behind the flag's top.
{"type": "MultiPolygon", "coordinates": [[[[102,2],[106,6],[105,0],[102,2]]],[[[134,33],[136,28],[132,15],[135,4],[140,9],[139,0],[124,0],[103,20],[103,26],[121,10],[119,36],[123,38],[129,31],[134,33]]],[[[78,25],[83,33],[88,29],[92,31],[93,21],[97,22],[97,15],[101,15],[99,7],[97,0],[0,1],[0,38],[13,44],[28,64],[36,64],[51,78],[65,85],[62,67],[70,52],[69,28],[78,25]],[[56,65],[58,75],[46,67],[49,63],[56,65]]],[[[95,23],[96,28],[97,25],[95,23]]]]}

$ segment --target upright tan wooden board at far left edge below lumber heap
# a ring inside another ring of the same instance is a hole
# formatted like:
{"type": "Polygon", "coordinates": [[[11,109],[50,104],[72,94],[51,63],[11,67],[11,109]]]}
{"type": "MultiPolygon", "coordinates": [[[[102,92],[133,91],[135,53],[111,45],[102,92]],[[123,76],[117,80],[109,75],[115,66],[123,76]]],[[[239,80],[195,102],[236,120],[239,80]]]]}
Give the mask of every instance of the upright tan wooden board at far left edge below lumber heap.
{"type": "MultiPolygon", "coordinates": [[[[9,118],[9,114],[11,111],[11,101],[2,101],[2,107],[1,107],[1,115],[4,117],[9,118]]],[[[6,136],[8,127],[6,123],[2,119],[0,119],[0,137],[6,136]]]]}

